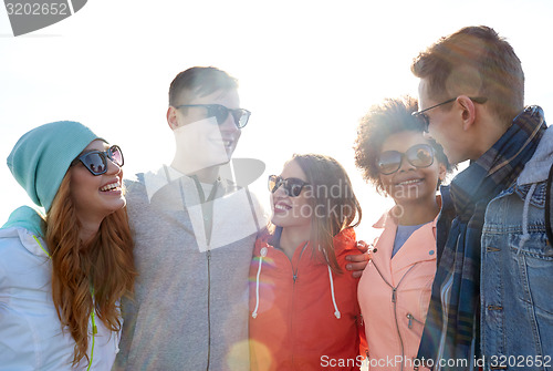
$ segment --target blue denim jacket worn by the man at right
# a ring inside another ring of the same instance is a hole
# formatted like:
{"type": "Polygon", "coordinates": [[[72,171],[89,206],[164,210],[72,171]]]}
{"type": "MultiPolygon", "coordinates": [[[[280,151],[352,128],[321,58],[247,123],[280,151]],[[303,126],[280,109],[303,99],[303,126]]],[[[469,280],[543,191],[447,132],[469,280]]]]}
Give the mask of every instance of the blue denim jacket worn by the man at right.
{"type": "Polygon", "coordinates": [[[553,370],[553,247],[544,209],[552,163],[549,127],[517,183],[486,210],[480,272],[486,370],[553,370]]]}

